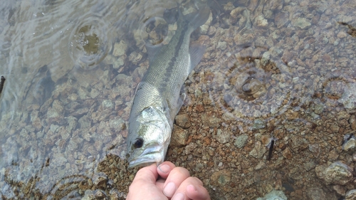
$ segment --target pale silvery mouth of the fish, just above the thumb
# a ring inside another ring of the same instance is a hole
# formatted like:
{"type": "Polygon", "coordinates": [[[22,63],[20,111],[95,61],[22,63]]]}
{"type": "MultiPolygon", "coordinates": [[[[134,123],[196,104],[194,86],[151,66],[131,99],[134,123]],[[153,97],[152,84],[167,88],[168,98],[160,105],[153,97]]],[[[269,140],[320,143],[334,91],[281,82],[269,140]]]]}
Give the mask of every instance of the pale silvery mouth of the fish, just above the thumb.
{"type": "Polygon", "coordinates": [[[129,169],[137,166],[147,166],[152,163],[161,163],[164,159],[164,148],[159,146],[146,147],[138,156],[132,155],[129,161],[129,169]]]}

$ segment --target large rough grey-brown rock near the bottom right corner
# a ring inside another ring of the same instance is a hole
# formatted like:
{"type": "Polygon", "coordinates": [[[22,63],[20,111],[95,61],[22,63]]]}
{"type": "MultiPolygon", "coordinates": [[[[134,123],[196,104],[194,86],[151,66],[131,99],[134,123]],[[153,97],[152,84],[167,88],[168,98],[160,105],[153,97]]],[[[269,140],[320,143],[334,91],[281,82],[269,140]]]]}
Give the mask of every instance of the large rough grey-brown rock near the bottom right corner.
{"type": "Polygon", "coordinates": [[[329,167],[315,167],[316,175],[325,181],[325,184],[345,185],[352,181],[352,169],[342,162],[334,162],[329,167]]]}

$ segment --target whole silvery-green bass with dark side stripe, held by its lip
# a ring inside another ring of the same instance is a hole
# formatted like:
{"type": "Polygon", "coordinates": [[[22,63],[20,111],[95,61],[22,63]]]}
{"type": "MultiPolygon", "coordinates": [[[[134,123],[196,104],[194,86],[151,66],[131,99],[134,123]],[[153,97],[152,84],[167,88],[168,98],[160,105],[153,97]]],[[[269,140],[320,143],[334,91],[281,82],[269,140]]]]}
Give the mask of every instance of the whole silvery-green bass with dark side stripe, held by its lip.
{"type": "Polygon", "coordinates": [[[169,43],[146,45],[150,66],[137,85],[129,117],[129,169],[164,161],[174,118],[186,97],[183,84],[205,53],[205,46],[189,43],[191,33],[209,18],[209,7],[185,16],[179,5],[177,10],[177,31],[169,43]]]}

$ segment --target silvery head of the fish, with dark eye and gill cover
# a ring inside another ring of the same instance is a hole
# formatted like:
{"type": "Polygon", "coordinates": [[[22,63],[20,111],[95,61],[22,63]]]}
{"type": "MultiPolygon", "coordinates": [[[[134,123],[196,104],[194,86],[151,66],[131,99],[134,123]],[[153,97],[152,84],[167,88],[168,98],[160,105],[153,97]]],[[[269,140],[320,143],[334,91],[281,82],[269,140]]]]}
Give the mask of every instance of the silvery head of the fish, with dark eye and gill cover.
{"type": "Polygon", "coordinates": [[[127,137],[129,168],[162,163],[170,142],[172,125],[169,119],[156,107],[143,110],[135,120],[130,121],[127,137]]]}

